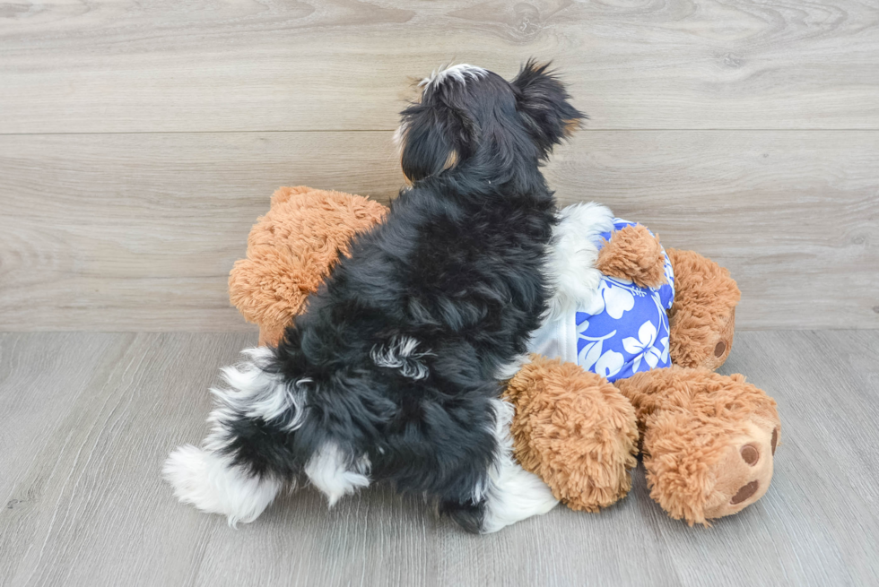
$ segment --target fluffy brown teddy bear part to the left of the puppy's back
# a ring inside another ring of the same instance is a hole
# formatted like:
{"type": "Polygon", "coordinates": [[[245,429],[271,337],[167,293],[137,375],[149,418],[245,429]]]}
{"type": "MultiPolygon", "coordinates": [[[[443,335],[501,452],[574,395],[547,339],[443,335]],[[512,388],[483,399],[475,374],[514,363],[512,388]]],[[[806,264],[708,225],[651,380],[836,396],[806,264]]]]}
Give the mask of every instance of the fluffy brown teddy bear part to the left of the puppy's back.
{"type": "Polygon", "coordinates": [[[387,208],[358,195],[282,187],[248,236],[246,259],[229,274],[229,299],[259,324],[260,345],[276,345],[283,329],[326,280],[355,234],[385,217],[387,208]]]}

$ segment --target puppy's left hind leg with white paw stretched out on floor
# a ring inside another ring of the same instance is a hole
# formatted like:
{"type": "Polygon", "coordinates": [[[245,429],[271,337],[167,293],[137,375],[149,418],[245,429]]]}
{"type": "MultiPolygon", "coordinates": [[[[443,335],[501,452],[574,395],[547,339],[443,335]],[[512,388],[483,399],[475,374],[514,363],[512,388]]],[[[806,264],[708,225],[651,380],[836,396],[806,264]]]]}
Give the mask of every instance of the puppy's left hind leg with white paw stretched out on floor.
{"type": "Polygon", "coordinates": [[[292,470],[284,435],[304,418],[304,391],[268,367],[272,350],[245,354],[242,365],[223,369],[228,388],[211,390],[217,406],[203,447],[178,447],[162,469],[181,502],[223,514],[232,526],[253,522],[272,503],[292,470]]]}

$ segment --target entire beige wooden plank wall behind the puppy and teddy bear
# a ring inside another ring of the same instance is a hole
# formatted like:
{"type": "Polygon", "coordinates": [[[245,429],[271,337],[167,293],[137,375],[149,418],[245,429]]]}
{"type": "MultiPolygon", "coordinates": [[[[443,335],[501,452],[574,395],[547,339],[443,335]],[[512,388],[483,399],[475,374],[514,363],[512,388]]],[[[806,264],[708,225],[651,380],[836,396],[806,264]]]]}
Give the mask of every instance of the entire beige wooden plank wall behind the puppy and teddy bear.
{"type": "Polygon", "coordinates": [[[0,330],[226,331],[276,186],[387,201],[410,81],[553,59],[547,174],[726,265],[742,329],[879,328],[879,7],[0,3],[0,330]]]}

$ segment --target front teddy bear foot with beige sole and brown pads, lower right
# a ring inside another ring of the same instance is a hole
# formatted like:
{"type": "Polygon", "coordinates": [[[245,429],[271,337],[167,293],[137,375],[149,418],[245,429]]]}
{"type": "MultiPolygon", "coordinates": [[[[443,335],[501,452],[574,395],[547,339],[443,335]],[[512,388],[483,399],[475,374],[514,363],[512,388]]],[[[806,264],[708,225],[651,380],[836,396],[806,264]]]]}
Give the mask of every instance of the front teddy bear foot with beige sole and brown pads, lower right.
{"type": "Polygon", "coordinates": [[[708,525],[769,488],[781,423],[744,376],[673,366],[616,385],[638,416],[650,496],[673,518],[708,525]]]}

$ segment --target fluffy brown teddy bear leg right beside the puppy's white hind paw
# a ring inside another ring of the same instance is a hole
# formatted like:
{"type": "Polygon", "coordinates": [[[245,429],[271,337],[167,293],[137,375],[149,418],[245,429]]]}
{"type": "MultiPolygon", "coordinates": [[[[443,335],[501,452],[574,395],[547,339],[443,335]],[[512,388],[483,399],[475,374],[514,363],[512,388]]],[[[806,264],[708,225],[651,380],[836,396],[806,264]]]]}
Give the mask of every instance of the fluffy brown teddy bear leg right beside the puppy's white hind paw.
{"type": "Polygon", "coordinates": [[[510,380],[518,462],[574,510],[596,512],[629,493],[637,461],[635,410],[605,378],[533,355],[510,380]]]}

